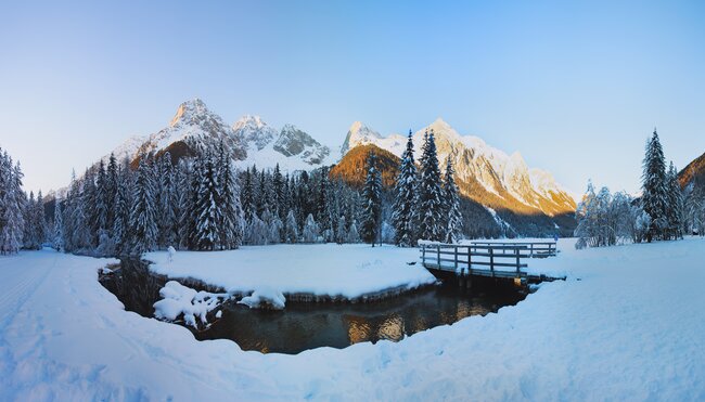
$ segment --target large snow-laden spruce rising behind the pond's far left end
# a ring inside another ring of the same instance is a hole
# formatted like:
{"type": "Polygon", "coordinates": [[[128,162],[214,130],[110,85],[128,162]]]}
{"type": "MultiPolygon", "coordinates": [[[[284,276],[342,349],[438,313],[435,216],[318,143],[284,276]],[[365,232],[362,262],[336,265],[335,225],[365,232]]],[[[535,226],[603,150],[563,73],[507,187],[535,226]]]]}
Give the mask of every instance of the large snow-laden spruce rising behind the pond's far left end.
{"type": "Polygon", "coordinates": [[[130,234],[132,244],[130,252],[141,255],[156,248],[157,222],[156,199],[154,197],[154,171],[152,159],[140,160],[137,181],[132,191],[132,210],[130,211],[130,234]]]}

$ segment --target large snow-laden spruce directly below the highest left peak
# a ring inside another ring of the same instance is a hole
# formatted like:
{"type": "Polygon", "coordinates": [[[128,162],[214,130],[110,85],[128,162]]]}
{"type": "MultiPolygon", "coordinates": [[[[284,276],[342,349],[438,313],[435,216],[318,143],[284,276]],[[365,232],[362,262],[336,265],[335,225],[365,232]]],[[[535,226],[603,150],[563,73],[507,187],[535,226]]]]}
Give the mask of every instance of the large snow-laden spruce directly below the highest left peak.
{"type": "Polygon", "coordinates": [[[198,250],[216,250],[221,247],[219,224],[222,223],[220,206],[220,183],[216,161],[210,153],[197,165],[198,186],[194,204],[195,237],[194,246],[198,250]]]}

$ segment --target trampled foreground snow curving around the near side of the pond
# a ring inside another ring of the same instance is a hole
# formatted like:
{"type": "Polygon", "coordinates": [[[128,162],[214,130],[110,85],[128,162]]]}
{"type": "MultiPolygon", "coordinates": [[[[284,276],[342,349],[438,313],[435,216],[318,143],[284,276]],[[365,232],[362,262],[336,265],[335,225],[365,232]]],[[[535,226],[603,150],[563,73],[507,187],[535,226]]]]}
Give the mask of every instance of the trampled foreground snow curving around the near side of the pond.
{"type": "Polygon", "coordinates": [[[705,241],[559,247],[515,307],[299,355],[126,312],[105,260],[1,257],[0,400],[705,400],[705,241]]]}

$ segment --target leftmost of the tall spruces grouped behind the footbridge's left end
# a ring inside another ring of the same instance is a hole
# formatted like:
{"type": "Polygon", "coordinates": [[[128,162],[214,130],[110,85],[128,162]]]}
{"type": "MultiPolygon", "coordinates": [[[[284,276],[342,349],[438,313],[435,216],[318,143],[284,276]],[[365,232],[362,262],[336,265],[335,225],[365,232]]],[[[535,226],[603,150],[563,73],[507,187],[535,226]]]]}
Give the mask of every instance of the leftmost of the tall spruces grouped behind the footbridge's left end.
{"type": "Polygon", "coordinates": [[[395,202],[392,222],[396,230],[394,243],[399,247],[415,245],[415,230],[413,217],[415,215],[416,165],[413,160],[413,140],[409,130],[407,148],[401,155],[399,176],[394,189],[395,202]]]}

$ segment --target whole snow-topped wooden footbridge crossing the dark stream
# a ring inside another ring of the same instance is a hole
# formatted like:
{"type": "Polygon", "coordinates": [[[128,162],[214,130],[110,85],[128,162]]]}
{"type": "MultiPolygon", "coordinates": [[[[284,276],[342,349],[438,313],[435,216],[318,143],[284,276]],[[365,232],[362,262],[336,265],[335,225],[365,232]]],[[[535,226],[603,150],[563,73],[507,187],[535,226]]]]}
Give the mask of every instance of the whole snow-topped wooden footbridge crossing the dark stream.
{"type": "Polygon", "coordinates": [[[528,258],[547,258],[556,255],[555,242],[470,244],[421,244],[421,261],[434,276],[450,278],[490,277],[513,281],[516,285],[541,282],[547,277],[529,275],[524,268],[528,258]]]}

